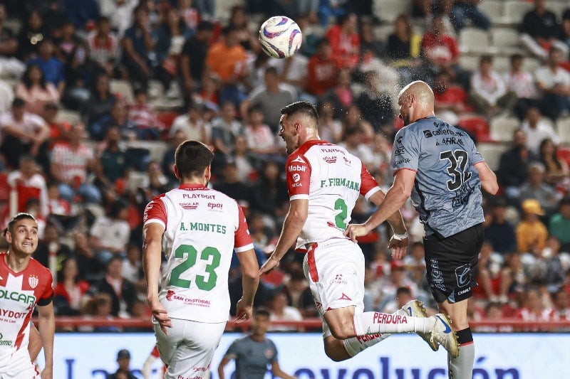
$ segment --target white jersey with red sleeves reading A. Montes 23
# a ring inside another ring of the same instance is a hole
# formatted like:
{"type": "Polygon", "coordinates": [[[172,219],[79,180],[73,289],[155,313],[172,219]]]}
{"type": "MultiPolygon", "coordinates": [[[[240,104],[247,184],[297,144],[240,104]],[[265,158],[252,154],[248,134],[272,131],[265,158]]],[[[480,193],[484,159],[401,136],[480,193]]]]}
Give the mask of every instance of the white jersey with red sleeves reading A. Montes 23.
{"type": "Polygon", "coordinates": [[[145,225],[164,226],[166,266],[159,299],[168,315],[207,323],[229,317],[228,271],[233,250],[253,249],[242,208],[202,185],[182,186],[152,199],[145,225]]]}

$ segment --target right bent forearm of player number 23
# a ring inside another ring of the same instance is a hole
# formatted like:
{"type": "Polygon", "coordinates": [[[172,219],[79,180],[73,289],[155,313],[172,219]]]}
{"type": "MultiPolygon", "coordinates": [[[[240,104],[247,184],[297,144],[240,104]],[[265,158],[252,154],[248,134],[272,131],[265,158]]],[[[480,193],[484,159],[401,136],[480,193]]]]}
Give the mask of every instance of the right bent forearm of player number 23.
{"type": "Polygon", "coordinates": [[[242,299],[237,302],[237,322],[252,317],[254,297],[259,284],[259,265],[253,249],[237,253],[239,265],[242,267],[242,299]]]}

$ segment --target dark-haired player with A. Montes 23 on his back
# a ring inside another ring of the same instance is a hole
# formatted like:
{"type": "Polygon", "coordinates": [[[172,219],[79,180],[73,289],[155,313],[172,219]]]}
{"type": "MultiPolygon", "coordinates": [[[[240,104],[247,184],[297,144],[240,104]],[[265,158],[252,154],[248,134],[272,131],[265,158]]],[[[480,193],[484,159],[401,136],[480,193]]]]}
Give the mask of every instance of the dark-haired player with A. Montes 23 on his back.
{"type": "Polygon", "coordinates": [[[147,205],[143,265],[165,378],[207,378],[229,317],[228,271],[235,249],[242,267],[240,320],[252,316],[259,266],[242,208],[207,188],[214,154],[186,141],[175,152],[180,187],[147,205]],[[163,249],[163,250],[162,250],[163,249]],[[166,265],[160,275],[161,251],[166,265]]]}

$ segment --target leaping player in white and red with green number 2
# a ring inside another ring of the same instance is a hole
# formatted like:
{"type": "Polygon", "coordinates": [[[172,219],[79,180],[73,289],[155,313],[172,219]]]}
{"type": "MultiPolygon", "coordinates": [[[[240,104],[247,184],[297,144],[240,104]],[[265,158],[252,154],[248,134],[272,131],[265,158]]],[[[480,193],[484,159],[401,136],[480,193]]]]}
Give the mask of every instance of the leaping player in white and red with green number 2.
{"type": "MultiPolygon", "coordinates": [[[[325,352],[333,361],[355,356],[388,333],[404,332],[416,332],[432,348],[440,343],[457,354],[457,338],[444,314],[426,318],[423,312],[405,309],[395,314],[363,311],[364,256],[343,232],[359,195],[380,205],[384,193],[360,159],[318,137],[318,115],[311,103],[294,102],[281,114],[279,135],[290,154],[286,162],[289,213],[279,242],[260,271],[279,265],[295,240],[297,250],[306,252],[305,275],[325,321],[325,352]]],[[[400,259],[408,245],[400,212],[388,222],[396,233],[390,239],[393,257],[400,259]]]]}

